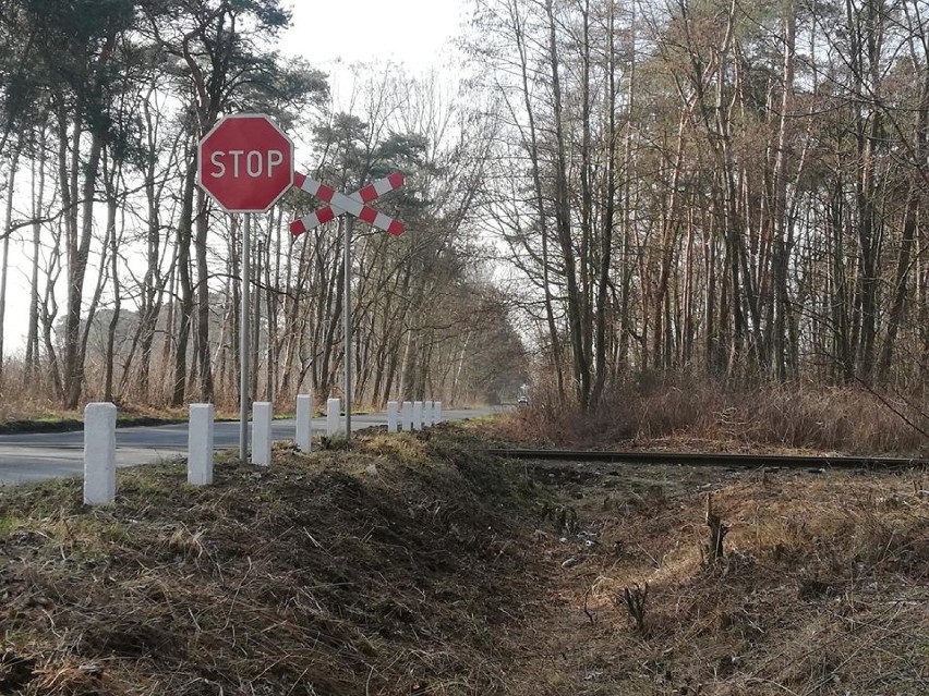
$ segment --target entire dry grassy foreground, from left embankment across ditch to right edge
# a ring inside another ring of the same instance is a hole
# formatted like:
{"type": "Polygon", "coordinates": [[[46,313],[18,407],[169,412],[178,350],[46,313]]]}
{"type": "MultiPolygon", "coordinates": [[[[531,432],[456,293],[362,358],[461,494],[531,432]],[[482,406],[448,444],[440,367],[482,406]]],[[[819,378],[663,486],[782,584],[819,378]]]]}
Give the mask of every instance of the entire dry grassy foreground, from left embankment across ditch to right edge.
{"type": "Polygon", "coordinates": [[[283,448],[208,488],[120,472],[108,508],[0,489],[0,694],[929,693],[921,473],[517,463],[498,438],[283,448]]]}

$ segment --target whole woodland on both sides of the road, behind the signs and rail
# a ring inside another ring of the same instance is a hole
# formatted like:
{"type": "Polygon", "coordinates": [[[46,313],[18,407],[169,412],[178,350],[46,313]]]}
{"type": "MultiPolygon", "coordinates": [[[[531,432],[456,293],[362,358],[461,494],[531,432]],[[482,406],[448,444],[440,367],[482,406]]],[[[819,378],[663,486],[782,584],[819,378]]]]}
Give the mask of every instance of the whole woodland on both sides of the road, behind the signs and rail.
{"type": "MultiPolygon", "coordinates": [[[[11,264],[32,279],[4,390],[238,399],[242,225],[195,151],[252,111],[337,187],[407,174],[378,202],[407,234],[357,228],[358,402],[534,379],[587,410],[662,374],[921,391],[929,4],[468,9],[460,87],[359,69],[337,108],[275,52],[278,0],[0,0],[0,315],[11,264]]],[[[258,398],[340,393],[338,224],[288,232],[313,206],[255,217],[258,398]]]]}

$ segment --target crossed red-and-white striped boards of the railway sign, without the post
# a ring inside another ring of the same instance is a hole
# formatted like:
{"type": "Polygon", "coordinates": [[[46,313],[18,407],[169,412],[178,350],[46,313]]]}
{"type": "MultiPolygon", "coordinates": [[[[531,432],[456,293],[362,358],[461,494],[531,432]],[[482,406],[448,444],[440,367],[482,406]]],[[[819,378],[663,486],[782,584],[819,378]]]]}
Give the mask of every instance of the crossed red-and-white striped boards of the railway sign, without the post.
{"type": "Polygon", "coordinates": [[[378,212],[367,204],[395,188],[399,188],[405,182],[403,174],[394,172],[389,176],[373,181],[367,186],[363,186],[354,193],[346,195],[319,183],[315,179],[299,173],[294,174],[294,186],[329,205],[291,222],[290,233],[293,236],[299,236],[324,222],[329,222],[340,215],[348,213],[367,222],[373,228],[384,230],[394,236],[400,236],[406,231],[406,225],[399,220],[394,220],[383,212],[378,212]]]}

